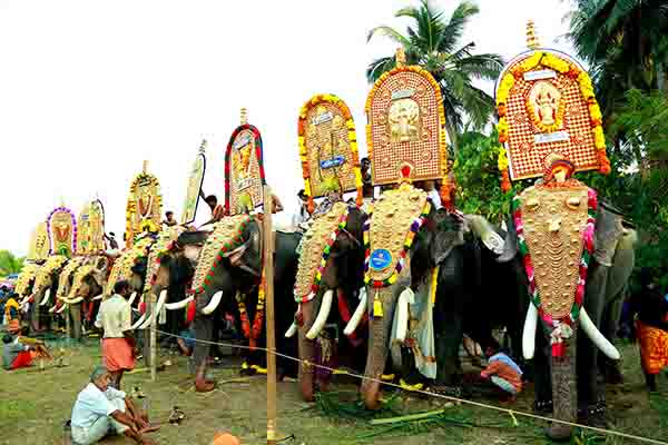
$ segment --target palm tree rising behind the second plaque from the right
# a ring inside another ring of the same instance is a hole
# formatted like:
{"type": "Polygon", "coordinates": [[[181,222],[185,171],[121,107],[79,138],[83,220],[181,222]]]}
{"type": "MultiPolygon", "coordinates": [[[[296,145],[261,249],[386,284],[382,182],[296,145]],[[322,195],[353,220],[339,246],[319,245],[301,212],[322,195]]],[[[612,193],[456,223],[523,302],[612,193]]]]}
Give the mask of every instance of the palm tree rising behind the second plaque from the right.
{"type": "MultiPolygon", "coordinates": [[[[428,0],[418,7],[399,10],[395,17],[407,17],[413,24],[402,34],[392,27],[376,27],[369,31],[367,41],[375,34],[383,34],[403,47],[406,63],[419,65],[432,73],[441,86],[445,108],[445,129],[454,142],[462,130],[464,116],[475,129],[482,129],[494,110],[494,101],[483,90],[473,86],[472,80],[495,80],[503,67],[501,56],[493,53],[474,55],[474,42],[460,44],[464,28],[479,12],[475,4],[462,1],[452,16],[434,8],[428,0]]],[[[370,81],[395,67],[394,56],[374,60],[366,69],[370,81]]]]}

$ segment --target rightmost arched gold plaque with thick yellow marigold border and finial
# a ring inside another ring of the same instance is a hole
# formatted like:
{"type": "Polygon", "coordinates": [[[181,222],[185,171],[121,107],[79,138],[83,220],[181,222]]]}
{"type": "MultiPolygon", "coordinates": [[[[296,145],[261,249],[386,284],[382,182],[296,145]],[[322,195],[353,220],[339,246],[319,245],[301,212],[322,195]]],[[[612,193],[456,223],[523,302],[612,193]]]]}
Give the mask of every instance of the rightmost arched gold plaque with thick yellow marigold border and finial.
{"type": "MultiPolygon", "coordinates": [[[[510,179],[539,177],[550,156],[561,156],[577,171],[609,172],[601,111],[591,79],[570,56],[540,48],[533,23],[529,51],[511,60],[497,82],[499,141],[508,154],[510,179]]],[[[504,188],[508,188],[504,181],[504,188]]]]}

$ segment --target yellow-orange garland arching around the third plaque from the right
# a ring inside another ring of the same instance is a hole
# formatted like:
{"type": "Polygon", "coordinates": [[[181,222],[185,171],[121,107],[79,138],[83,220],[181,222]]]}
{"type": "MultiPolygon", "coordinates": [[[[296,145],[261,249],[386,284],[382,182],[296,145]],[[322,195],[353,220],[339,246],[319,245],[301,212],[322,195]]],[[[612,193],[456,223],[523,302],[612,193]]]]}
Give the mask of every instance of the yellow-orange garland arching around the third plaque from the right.
{"type": "Polygon", "coordinates": [[[302,176],[304,178],[304,194],[308,197],[308,211],[313,212],[315,205],[313,202],[313,190],[311,189],[311,172],[308,166],[308,154],[306,152],[305,132],[306,132],[306,115],[308,111],[321,105],[331,103],[338,108],[345,119],[345,126],[347,128],[348,141],[351,146],[351,155],[353,162],[353,172],[355,175],[355,188],[357,191],[357,198],[355,204],[361,207],[363,204],[362,199],[362,170],[360,166],[360,151],[357,148],[357,134],[355,131],[355,121],[353,115],[348,109],[347,105],[334,95],[315,95],[299,109],[299,119],[297,120],[297,135],[299,142],[299,161],[302,162],[302,176]]]}

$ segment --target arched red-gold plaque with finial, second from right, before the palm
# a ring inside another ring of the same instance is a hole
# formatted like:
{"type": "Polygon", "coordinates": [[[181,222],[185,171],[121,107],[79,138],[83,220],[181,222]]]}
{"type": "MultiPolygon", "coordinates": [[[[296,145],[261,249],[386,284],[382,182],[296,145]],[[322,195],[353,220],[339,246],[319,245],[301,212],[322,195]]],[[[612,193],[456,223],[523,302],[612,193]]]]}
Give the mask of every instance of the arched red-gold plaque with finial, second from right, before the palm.
{"type": "Polygon", "coordinates": [[[441,88],[426,70],[404,62],[400,49],[396,68],[381,76],[366,99],[373,185],[399,182],[402,178],[443,178],[446,182],[441,88]]]}

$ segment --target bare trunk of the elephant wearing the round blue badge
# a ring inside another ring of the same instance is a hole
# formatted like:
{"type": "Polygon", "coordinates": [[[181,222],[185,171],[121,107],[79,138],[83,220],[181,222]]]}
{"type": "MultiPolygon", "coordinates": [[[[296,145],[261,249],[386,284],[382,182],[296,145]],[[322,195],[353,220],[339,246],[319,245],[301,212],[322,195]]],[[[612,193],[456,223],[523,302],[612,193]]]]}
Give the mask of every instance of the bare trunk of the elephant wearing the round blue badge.
{"type": "Polygon", "coordinates": [[[381,375],[383,374],[387,359],[392,320],[394,319],[395,298],[394,287],[372,289],[369,295],[370,312],[373,314],[375,293],[383,306],[383,316],[374,314],[370,320],[369,329],[369,355],[366,356],[366,368],[362,383],[362,397],[367,409],[380,408],[381,400],[381,375]]]}

